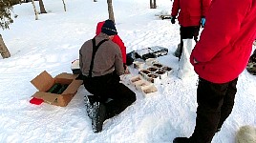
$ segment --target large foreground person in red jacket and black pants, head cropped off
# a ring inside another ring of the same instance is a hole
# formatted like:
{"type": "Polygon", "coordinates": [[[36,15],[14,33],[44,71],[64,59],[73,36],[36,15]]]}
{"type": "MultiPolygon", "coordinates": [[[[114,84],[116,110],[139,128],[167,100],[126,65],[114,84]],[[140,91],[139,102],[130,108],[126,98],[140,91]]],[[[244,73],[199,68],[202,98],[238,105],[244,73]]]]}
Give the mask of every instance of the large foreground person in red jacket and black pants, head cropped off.
{"type": "Polygon", "coordinates": [[[232,112],[238,76],[256,38],[256,0],[213,0],[190,62],[199,75],[194,133],[174,143],[210,143],[232,112]]]}

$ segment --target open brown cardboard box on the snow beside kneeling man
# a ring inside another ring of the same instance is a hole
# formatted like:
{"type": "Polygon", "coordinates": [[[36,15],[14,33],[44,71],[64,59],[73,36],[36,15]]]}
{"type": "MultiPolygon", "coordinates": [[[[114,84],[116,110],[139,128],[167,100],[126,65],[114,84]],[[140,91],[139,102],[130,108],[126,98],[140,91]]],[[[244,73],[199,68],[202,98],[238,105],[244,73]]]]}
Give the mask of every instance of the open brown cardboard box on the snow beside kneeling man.
{"type": "Polygon", "coordinates": [[[44,71],[32,79],[32,85],[38,90],[32,97],[43,99],[45,103],[65,107],[75,96],[82,80],[75,80],[77,75],[62,72],[53,78],[48,72],[44,71]],[[47,92],[54,83],[68,84],[68,88],[61,94],[47,92]]]}

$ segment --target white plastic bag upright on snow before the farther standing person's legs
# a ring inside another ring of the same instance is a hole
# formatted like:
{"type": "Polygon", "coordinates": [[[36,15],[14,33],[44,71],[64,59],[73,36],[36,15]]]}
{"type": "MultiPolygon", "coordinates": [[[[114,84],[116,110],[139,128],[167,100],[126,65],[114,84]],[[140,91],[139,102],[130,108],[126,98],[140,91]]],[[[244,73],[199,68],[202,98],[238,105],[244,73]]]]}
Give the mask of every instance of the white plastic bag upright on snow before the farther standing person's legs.
{"type": "Polygon", "coordinates": [[[196,75],[194,67],[190,63],[190,54],[195,47],[196,42],[193,39],[183,39],[183,50],[179,62],[178,77],[181,79],[196,75]]]}

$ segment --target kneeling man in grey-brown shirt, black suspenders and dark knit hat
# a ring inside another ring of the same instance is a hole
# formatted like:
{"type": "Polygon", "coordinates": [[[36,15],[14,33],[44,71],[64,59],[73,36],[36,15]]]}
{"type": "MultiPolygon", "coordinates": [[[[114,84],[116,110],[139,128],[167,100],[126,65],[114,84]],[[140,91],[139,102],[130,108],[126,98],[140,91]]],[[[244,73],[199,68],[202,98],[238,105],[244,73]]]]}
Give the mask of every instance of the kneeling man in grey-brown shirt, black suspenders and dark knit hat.
{"type": "Polygon", "coordinates": [[[94,95],[87,96],[87,112],[95,133],[103,122],[124,111],[136,101],[136,94],[119,83],[124,73],[121,51],[112,39],[117,35],[114,22],[106,20],[101,32],[86,41],[79,51],[79,66],[84,87],[94,95]],[[107,102],[107,100],[111,99],[107,102]]]}

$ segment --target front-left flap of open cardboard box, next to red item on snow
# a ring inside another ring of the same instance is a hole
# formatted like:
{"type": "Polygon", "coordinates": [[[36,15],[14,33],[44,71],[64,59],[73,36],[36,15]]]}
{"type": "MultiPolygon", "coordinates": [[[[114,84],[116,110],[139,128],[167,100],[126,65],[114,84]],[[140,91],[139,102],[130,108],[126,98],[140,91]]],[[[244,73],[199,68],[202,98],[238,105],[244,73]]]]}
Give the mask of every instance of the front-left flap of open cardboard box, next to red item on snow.
{"type": "Polygon", "coordinates": [[[32,97],[43,99],[44,102],[52,104],[57,99],[57,97],[59,95],[60,94],[55,94],[55,93],[51,93],[51,92],[35,92],[32,95],[32,97]]]}

